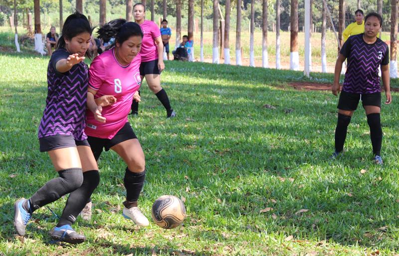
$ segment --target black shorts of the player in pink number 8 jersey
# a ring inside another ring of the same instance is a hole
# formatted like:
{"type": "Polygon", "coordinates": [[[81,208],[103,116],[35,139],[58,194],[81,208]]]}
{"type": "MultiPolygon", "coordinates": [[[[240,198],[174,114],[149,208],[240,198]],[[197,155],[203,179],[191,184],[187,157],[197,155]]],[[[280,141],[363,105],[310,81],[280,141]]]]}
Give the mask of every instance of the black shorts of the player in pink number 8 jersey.
{"type": "Polygon", "coordinates": [[[93,152],[96,161],[100,158],[103,148],[105,148],[105,151],[108,151],[113,146],[130,139],[137,139],[137,137],[136,134],[134,134],[132,126],[129,122],[126,122],[126,124],[117,132],[117,134],[115,134],[112,139],[103,139],[92,136],[87,137],[91,151],[93,152]]]}

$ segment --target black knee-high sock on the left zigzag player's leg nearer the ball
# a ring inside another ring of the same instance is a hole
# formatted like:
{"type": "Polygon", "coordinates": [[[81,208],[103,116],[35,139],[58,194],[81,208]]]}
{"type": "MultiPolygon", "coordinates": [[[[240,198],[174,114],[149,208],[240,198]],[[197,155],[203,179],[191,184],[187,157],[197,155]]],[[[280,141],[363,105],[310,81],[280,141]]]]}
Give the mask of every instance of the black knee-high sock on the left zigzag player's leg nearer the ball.
{"type": "Polygon", "coordinates": [[[75,222],[76,217],[85,207],[87,200],[90,199],[99,182],[100,175],[98,170],[83,173],[82,186],[69,195],[57,227],[67,224],[72,225],[75,222]]]}

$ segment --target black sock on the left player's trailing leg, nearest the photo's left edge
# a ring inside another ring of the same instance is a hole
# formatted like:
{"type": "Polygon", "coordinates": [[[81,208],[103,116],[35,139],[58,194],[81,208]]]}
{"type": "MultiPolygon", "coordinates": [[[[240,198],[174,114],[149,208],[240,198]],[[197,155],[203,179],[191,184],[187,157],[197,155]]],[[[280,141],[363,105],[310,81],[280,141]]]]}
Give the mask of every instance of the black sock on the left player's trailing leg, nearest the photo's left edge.
{"type": "Polygon", "coordinates": [[[81,168],[61,170],[58,172],[58,175],[58,178],[49,180],[30,197],[30,213],[58,200],[63,195],[71,193],[82,185],[83,174],[81,168]]]}

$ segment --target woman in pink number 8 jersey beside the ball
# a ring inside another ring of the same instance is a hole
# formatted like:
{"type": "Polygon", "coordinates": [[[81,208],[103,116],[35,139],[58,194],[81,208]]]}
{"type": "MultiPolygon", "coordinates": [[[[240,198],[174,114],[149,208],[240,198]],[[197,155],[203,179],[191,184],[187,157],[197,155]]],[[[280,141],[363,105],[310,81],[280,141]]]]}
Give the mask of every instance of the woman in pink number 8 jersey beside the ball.
{"type": "Polygon", "coordinates": [[[148,226],[148,219],[137,207],[146,174],[145,158],[127,118],[133,99],[140,101],[137,91],[141,85],[139,52],[143,32],[137,23],[115,19],[101,27],[98,34],[114,37],[115,43],[90,65],[87,140],[96,160],[105,148],[125,161],[123,216],[138,226],[148,226]]]}

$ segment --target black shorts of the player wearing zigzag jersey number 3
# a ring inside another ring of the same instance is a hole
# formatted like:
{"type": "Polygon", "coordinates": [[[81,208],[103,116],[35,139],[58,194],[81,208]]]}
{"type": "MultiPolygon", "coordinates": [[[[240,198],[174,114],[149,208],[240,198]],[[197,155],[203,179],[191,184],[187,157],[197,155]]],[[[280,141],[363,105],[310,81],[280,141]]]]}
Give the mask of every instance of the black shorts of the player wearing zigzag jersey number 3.
{"type": "Polygon", "coordinates": [[[362,99],[363,106],[377,106],[381,108],[381,92],[361,94],[346,91],[341,91],[337,108],[351,111],[356,110],[360,99],[362,99]]]}

